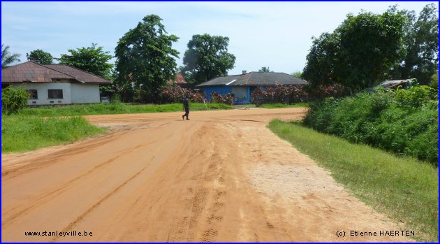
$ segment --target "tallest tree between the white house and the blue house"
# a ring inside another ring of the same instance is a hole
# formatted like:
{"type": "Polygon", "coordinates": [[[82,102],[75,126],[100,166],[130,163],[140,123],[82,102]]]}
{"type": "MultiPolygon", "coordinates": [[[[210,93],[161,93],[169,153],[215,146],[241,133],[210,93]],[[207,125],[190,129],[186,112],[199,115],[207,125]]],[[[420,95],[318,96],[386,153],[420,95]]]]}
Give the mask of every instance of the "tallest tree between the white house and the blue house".
{"type": "Polygon", "coordinates": [[[133,99],[133,85],[140,87],[140,100],[154,101],[158,89],[174,78],[179,52],[172,45],[179,39],[167,35],[161,17],[147,15],[119,39],[115,48],[117,87],[124,101],[133,99]]]}

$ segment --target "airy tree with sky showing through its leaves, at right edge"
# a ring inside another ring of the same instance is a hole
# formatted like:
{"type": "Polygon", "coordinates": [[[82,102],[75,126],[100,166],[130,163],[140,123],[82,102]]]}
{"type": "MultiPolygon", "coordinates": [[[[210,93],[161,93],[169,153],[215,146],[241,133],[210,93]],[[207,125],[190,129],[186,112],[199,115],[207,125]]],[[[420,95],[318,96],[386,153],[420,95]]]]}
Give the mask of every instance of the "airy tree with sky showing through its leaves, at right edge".
{"type": "Polygon", "coordinates": [[[439,63],[439,17],[434,3],[426,5],[420,14],[413,10],[397,10],[391,6],[390,12],[406,17],[404,45],[406,55],[397,67],[396,78],[416,78],[420,84],[427,84],[438,71],[439,63]]]}

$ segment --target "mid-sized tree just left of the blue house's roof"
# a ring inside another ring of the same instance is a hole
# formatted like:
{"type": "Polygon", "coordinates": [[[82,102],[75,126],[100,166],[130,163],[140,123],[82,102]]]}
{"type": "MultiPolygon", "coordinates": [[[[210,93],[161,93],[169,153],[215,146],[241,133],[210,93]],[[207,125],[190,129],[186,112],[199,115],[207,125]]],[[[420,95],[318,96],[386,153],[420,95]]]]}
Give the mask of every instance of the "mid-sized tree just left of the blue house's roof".
{"type": "Polygon", "coordinates": [[[234,68],[235,56],[228,52],[229,38],[193,35],[184,54],[184,70],[191,73],[194,83],[200,84],[219,76],[228,75],[234,68]]]}

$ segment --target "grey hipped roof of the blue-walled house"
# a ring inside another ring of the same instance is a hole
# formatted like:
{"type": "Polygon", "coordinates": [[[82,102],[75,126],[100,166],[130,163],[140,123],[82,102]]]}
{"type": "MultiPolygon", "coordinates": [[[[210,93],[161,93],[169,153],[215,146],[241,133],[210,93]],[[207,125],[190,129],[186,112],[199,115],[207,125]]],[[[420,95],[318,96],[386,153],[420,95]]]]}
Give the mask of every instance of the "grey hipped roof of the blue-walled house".
{"type": "Polygon", "coordinates": [[[286,73],[250,72],[244,75],[222,76],[204,82],[197,87],[230,85],[230,86],[262,86],[262,85],[307,85],[305,80],[286,73]]]}

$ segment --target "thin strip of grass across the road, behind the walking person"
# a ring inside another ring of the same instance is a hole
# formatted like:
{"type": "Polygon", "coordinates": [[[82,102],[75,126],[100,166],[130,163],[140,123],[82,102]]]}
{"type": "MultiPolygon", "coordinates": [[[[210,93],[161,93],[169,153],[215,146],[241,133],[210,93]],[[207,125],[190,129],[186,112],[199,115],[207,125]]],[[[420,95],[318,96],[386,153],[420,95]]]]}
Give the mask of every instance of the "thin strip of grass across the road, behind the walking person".
{"type": "MultiPolygon", "coordinates": [[[[190,103],[191,111],[233,109],[222,103],[190,103]]],[[[162,105],[146,104],[131,105],[128,103],[94,103],[87,105],[47,106],[40,108],[25,108],[20,110],[21,115],[40,116],[81,116],[105,115],[122,113],[159,113],[182,111],[182,103],[169,103],[162,105]]]]}

